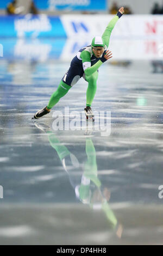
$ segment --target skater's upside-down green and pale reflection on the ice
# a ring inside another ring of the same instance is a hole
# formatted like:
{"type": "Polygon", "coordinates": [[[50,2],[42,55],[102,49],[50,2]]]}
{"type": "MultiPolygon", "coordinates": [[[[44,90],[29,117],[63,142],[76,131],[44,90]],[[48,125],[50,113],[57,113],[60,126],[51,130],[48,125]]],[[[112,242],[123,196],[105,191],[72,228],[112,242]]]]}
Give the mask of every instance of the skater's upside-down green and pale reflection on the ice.
{"type": "MultiPolygon", "coordinates": [[[[62,166],[70,178],[76,197],[83,204],[89,205],[91,209],[102,210],[108,219],[109,227],[116,231],[118,237],[121,237],[122,225],[118,223],[114,212],[108,204],[110,192],[108,188],[102,186],[98,178],[96,150],[92,139],[85,136],[85,152],[87,158],[84,163],[80,164],[77,157],[65,145],[60,143],[53,131],[37,123],[35,123],[35,126],[42,131],[46,131],[49,143],[57,151],[62,166]],[[80,170],[82,170],[82,174],[80,170]],[[79,171],[79,175],[77,171],[79,171]]],[[[85,131],[85,135],[87,134],[88,131],[85,131]]]]}

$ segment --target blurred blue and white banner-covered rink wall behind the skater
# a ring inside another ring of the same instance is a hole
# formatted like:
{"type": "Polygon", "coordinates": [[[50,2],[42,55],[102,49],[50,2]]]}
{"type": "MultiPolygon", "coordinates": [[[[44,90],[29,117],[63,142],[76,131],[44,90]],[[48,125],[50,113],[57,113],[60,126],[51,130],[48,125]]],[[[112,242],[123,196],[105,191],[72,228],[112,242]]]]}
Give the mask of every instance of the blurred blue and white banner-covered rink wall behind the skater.
{"type": "MultiPolygon", "coordinates": [[[[92,38],[101,35],[112,15],[0,16],[0,37],[92,38]]],[[[112,32],[116,38],[163,36],[162,15],[126,15],[112,32]]]]}

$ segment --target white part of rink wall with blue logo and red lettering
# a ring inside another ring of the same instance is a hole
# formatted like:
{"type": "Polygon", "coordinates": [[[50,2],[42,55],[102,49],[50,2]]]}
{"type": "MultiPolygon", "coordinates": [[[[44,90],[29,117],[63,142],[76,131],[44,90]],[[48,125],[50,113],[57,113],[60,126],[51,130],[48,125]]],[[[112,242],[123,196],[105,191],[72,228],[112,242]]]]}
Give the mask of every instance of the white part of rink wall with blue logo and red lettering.
{"type": "MultiPolygon", "coordinates": [[[[68,38],[93,38],[102,35],[114,15],[62,15],[61,22],[68,38]]],[[[123,15],[117,21],[112,38],[163,37],[163,15],[123,15]]]]}

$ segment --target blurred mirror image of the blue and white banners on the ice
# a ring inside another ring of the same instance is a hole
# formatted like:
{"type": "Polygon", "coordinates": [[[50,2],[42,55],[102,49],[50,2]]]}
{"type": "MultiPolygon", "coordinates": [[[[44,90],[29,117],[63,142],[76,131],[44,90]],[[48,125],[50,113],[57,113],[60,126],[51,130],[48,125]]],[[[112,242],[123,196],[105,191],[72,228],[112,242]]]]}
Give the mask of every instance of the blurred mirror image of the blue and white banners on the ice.
{"type": "MultiPolygon", "coordinates": [[[[120,30],[118,34],[120,32],[122,31],[120,30]]],[[[90,45],[91,40],[92,36],[90,38],[89,36],[87,38],[79,37],[79,39],[76,36],[72,36],[69,39],[1,38],[1,44],[4,46],[3,58],[5,59],[38,62],[45,62],[48,59],[60,59],[65,62],[65,60],[70,61],[80,48],[90,45]]],[[[112,37],[109,48],[113,53],[114,60],[122,60],[124,65],[128,65],[130,60],[153,60],[154,70],[162,72],[162,39],[160,38],[127,39],[122,38],[122,36],[120,38],[120,35],[118,35],[117,38],[112,37]],[[124,60],[126,60],[126,64],[124,60]]]]}

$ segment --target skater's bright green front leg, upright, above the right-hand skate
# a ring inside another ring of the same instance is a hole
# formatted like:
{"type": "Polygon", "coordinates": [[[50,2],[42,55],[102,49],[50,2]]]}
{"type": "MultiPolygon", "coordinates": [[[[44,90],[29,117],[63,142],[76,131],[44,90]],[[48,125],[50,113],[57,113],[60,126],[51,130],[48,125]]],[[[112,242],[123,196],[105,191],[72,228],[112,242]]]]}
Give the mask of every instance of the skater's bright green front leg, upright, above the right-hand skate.
{"type": "Polygon", "coordinates": [[[89,83],[86,91],[86,106],[91,107],[92,101],[96,94],[98,72],[96,71],[90,76],[85,76],[85,78],[89,83]]]}

